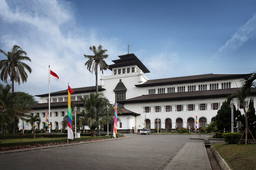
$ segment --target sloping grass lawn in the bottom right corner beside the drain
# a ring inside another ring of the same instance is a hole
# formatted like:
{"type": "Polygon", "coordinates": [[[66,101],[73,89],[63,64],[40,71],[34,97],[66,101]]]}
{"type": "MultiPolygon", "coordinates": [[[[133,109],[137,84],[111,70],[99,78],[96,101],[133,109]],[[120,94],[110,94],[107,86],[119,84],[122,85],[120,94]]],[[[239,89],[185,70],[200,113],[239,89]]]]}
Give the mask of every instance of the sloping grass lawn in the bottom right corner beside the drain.
{"type": "Polygon", "coordinates": [[[213,146],[232,170],[256,169],[256,144],[215,143],[213,146]]]}

